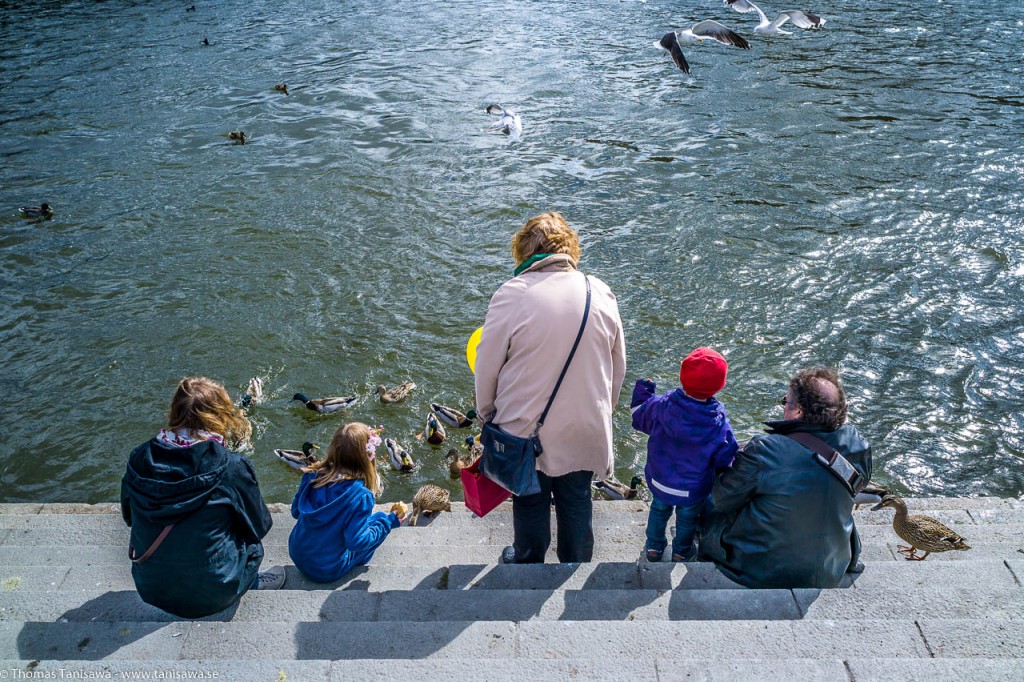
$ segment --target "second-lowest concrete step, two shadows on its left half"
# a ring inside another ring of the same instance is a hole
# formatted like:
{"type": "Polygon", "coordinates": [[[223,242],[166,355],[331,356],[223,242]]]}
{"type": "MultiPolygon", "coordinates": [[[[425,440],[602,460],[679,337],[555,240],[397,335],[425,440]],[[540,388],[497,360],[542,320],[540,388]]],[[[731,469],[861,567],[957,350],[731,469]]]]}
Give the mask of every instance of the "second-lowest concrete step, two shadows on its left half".
{"type": "MultiPolygon", "coordinates": [[[[0,623],[0,658],[1021,658],[1022,621],[0,623]]],[[[622,674],[622,669],[620,669],[622,674]]],[[[845,679],[845,678],[844,678],[845,679]]]]}

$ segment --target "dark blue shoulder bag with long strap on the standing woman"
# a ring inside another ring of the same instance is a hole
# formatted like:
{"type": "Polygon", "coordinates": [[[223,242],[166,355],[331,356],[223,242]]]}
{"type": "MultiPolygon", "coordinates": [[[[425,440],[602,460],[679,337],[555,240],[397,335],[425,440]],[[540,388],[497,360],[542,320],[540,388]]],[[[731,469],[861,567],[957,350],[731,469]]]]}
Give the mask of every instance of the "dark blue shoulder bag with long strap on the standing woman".
{"type": "Polygon", "coordinates": [[[541,481],[537,477],[537,458],[541,456],[544,449],[541,446],[541,438],[538,433],[544,426],[544,420],[548,417],[551,403],[555,400],[558,388],[562,385],[565,372],[569,369],[569,363],[575,355],[580,346],[580,339],[583,338],[583,331],[587,327],[587,317],[590,316],[590,278],[584,275],[587,282],[587,305],[583,310],[583,322],[580,324],[580,332],[577,340],[569,351],[568,359],[562,368],[562,373],[555,382],[555,388],[551,391],[548,404],[541,414],[541,419],[537,422],[537,428],[526,438],[514,436],[493,421],[483,425],[480,433],[480,444],[483,445],[483,455],[480,457],[480,470],[483,474],[495,481],[506,491],[515,496],[534,495],[541,492],[541,481]]]}

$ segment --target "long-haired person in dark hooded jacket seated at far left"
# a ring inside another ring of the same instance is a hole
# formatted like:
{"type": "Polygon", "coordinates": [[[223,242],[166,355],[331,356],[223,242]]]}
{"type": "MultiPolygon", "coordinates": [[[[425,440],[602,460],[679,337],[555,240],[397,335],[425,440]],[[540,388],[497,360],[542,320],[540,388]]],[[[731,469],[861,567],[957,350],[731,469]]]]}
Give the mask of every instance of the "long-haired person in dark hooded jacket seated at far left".
{"type": "Polygon", "coordinates": [[[194,619],[285,584],[281,567],[258,573],[270,513],[252,464],[225,447],[251,433],[223,386],[190,377],[178,384],[167,428],[132,451],[121,513],[142,601],[194,619]]]}

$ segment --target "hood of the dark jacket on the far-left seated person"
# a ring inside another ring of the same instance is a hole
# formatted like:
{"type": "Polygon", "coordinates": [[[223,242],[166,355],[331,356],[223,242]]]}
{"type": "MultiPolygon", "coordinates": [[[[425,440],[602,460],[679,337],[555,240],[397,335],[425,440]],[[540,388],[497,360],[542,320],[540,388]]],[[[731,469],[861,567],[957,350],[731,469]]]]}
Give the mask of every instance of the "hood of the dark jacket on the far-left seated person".
{"type": "Polygon", "coordinates": [[[153,438],[128,458],[124,482],[137,514],[172,523],[202,507],[228,466],[228,453],[213,440],[174,447],[153,438]]]}

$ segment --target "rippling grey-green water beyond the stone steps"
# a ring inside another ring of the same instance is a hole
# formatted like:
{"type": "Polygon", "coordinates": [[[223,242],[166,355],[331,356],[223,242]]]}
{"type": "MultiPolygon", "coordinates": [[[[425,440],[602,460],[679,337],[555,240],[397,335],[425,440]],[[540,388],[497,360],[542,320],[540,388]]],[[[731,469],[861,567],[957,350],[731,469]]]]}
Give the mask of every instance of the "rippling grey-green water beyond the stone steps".
{"type": "Polygon", "coordinates": [[[4,501],[116,499],[187,374],[265,378],[268,500],[297,482],[270,451],[346,418],[419,461],[388,498],[457,489],[413,436],[471,406],[466,338],[548,210],[618,296],[622,478],[633,381],[708,344],[742,437],[821,361],[876,479],[1024,494],[1019,6],[812,3],[824,30],[769,43],[712,0],[185,4],[0,2],[4,501]],[[688,78],[652,43],[701,18],[754,49],[685,49],[688,78]],[[496,101],[520,141],[481,132],[496,101]],[[297,390],[365,397],[321,418],[297,390]]]}

